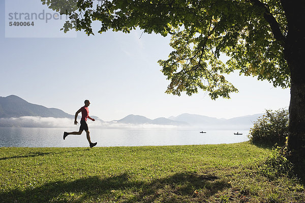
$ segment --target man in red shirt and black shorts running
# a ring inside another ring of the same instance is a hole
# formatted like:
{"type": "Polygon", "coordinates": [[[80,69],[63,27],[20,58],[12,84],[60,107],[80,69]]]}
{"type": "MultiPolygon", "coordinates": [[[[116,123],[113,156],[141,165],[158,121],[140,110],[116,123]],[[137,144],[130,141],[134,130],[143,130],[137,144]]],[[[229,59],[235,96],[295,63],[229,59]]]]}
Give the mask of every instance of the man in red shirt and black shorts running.
{"type": "Polygon", "coordinates": [[[92,143],[91,139],[90,139],[90,132],[88,130],[88,125],[87,125],[87,118],[95,121],[95,119],[89,117],[89,109],[88,106],[90,105],[89,100],[85,100],[85,105],[83,107],[81,107],[78,111],[76,111],[75,113],[75,119],[74,119],[74,125],[77,125],[78,122],[76,121],[78,113],[81,112],[81,120],[80,120],[80,127],[79,127],[79,131],[78,132],[64,132],[64,139],[66,139],[66,137],[68,135],[80,135],[82,133],[82,131],[86,131],[86,135],[87,135],[87,140],[90,144],[90,148],[93,148],[94,146],[97,145],[98,142],[92,143]]]}

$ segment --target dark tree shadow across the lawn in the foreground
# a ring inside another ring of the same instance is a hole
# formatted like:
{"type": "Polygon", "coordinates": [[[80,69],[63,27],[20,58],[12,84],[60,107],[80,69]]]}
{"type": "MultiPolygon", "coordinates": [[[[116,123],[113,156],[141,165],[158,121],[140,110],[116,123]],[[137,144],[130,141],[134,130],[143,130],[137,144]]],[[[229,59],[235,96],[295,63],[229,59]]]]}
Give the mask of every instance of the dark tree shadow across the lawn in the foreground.
{"type": "Polygon", "coordinates": [[[51,182],[24,191],[0,192],[0,202],[202,201],[231,187],[225,180],[219,180],[215,176],[208,177],[175,173],[170,177],[145,182],[133,181],[128,173],[105,179],[94,176],[72,182],[51,182]]]}

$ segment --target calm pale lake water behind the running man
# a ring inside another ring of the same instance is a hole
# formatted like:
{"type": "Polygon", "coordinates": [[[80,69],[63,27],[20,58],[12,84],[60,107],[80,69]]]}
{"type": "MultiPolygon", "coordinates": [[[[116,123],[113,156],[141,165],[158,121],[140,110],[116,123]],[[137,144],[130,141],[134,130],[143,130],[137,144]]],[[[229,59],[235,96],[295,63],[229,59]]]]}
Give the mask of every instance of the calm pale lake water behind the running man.
{"type": "MultiPolygon", "coordinates": [[[[61,128],[16,128],[0,127],[0,147],[88,147],[86,133],[69,135],[63,139],[64,131],[76,129],[61,128]]],[[[236,143],[249,140],[249,131],[172,129],[90,129],[93,142],[97,147],[115,146],[170,146],[192,144],[236,143]]]]}

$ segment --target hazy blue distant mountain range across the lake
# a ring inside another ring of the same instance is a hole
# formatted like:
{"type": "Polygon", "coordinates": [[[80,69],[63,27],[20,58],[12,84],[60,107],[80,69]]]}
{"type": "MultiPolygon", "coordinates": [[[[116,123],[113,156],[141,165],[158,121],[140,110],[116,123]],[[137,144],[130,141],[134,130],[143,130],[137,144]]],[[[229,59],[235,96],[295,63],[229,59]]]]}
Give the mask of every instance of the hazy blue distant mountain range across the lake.
{"type": "MultiPolygon", "coordinates": [[[[110,122],[104,122],[98,117],[102,123],[108,124],[154,124],[154,125],[171,125],[171,126],[194,126],[200,128],[218,128],[227,129],[232,127],[238,127],[243,129],[249,129],[253,126],[253,122],[263,114],[246,115],[243,117],[237,117],[232,119],[217,119],[206,117],[204,115],[184,113],[176,117],[169,118],[157,118],[154,120],[143,117],[142,115],[127,115],[127,117],[114,120],[110,122]]],[[[68,114],[63,110],[57,108],[47,108],[41,105],[28,103],[24,99],[11,95],[8,97],[0,97],[0,126],[18,126],[15,123],[8,123],[9,118],[19,117],[42,117],[42,118],[70,118],[73,119],[74,115],[68,114]]],[[[41,125],[40,125],[41,126],[41,125]]],[[[27,126],[22,126],[27,127],[27,126]]],[[[33,127],[33,126],[31,126],[33,127]]]]}

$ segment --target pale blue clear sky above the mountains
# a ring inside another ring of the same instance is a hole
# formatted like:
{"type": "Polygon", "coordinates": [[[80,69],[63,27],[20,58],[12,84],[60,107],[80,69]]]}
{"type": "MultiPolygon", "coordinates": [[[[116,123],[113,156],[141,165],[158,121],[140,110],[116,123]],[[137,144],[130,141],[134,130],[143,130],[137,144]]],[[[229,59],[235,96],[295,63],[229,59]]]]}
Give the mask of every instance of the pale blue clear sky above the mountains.
{"type": "MultiPolygon", "coordinates": [[[[168,95],[164,92],[169,81],[157,61],[167,59],[172,50],[170,36],[141,35],[137,30],[131,34],[109,31],[90,37],[77,32],[67,37],[52,33],[60,32],[60,26],[52,24],[55,21],[52,19],[45,26],[41,25],[43,20],[36,20],[35,35],[28,37],[26,32],[32,32],[28,27],[8,31],[6,23],[11,21],[8,10],[13,9],[6,8],[4,0],[0,7],[2,97],[17,95],[70,114],[75,114],[83,101],[89,99],[90,115],[104,121],[119,120],[128,114],[156,119],[181,113],[229,119],[289,106],[289,89],[273,88],[267,81],[237,73],[229,76],[239,90],[231,94],[231,99],[214,101],[203,91],[191,97],[168,95]],[[13,36],[14,32],[18,32],[18,38],[13,36]]],[[[26,13],[29,8],[14,9],[26,13]]],[[[46,8],[38,7],[31,12],[43,9],[46,8]]],[[[98,28],[98,22],[95,27],[98,28]]]]}

